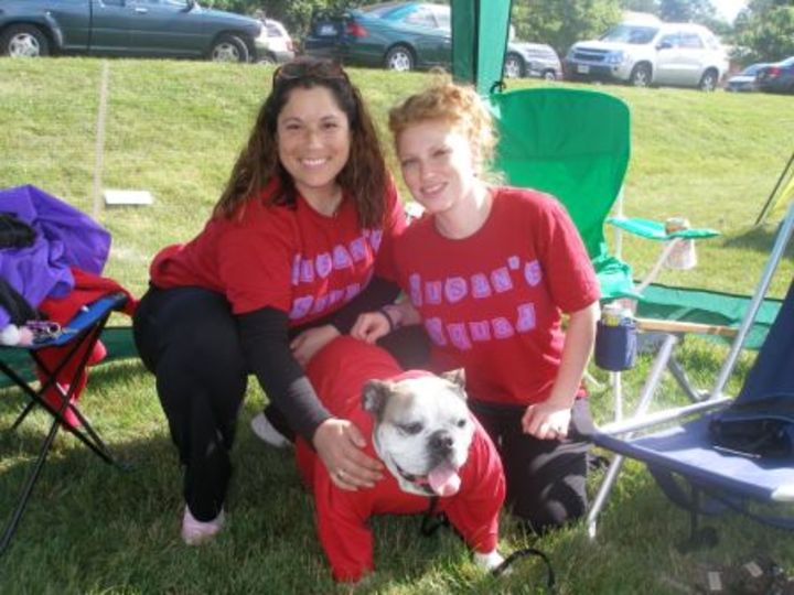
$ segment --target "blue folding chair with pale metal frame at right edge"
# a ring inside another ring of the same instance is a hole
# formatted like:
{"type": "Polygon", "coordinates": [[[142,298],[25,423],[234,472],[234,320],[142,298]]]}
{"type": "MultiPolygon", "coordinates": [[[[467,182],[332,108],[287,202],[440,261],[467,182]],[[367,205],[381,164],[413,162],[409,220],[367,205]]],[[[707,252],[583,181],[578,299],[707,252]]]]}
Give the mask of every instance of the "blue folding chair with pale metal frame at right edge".
{"type": "MultiPolygon", "coordinates": [[[[794,282],[788,290],[765,343],[748,375],[740,394],[733,401],[723,393],[736,360],[750,333],[777,263],[794,230],[794,203],[781,225],[772,253],[753,294],[748,312],[737,332],[731,349],[706,400],[690,405],[646,413],[654,396],[658,370],[652,370],[635,415],[631,420],[600,428],[593,442],[616,453],[593,502],[588,522],[594,536],[597,516],[603,507],[623,462],[627,456],[647,464],[665,494],[690,512],[690,544],[697,545],[704,534],[698,530],[700,513],[725,509],[744,512],[752,518],[794,529],[794,516],[758,512],[752,502],[794,502],[794,452],[782,457],[761,457],[736,448],[727,451],[715,444],[710,424],[725,415],[728,407],[752,408],[770,397],[784,397],[790,419],[794,412],[794,282]],[[693,415],[698,415],[684,423],[693,415]],[[659,424],[663,430],[653,431],[659,424]],[[673,424],[673,425],[670,425],[673,424]],[[639,432],[641,434],[637,435],[639,432]],[[686,494],[676,477],[690,486],[686,494]],[[704,495],[707,496],[704,499],[704,495]]],[[[673,340],[673,339],[670,339],[673,340]]],[[[667,346],[666,348],[669,348],[667,346]]],[[[794,423],[790,432],[794,442],[794,423]]],[[[788,511],[792,509],[788,508],[788,511]]],[[[706,533],[708,534],[708,533],[706,533]]]]}

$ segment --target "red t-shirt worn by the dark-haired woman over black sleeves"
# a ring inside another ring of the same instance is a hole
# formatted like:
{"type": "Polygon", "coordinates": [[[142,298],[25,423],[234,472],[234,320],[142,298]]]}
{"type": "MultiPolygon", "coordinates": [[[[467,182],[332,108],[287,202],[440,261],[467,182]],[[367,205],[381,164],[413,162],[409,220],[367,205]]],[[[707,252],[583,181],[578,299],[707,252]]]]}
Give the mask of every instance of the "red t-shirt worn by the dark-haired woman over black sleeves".
{"type": "MultiPolygon", "coordinates": [[[[262,196],[275,187],[273,182],[262,196]]],[[[373,273],[395,280],[391,246],[405,226],[393,183],[377,229],[361,228],[351,196],[331,217],[301,196],[294,208],[251,199],[242,217],[213,218],[192,241],[161,250],[151,280],[161,289],[194,285],[223,293],[235,314],[275,307],[298,326],[350,302],[373,273]]]]}

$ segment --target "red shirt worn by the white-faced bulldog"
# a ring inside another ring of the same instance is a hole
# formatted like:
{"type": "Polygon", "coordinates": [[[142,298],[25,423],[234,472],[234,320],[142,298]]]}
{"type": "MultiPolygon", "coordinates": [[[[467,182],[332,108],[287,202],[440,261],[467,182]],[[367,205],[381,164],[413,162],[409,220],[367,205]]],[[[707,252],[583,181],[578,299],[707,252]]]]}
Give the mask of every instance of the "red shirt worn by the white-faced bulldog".
{"type": "MultiPolygon", "coordinates": [[[[351,420],[366,436],[366,453],[377,457],[372,446],[373,421],[361,408],[364,383],[373,378],[394,378],[403,374],[397,361],[384,349],[350,336],[334,339],[307,367],[307,376],[320,399],[334,415],[351,420]]],[[[469,457],[460,468],[461,488],[451,497],[438,499],[436,510],[444,512],[470,548],[487,553],[498,541],[498,515],[505,497],[505,479],[496,448],[485,430],[472,416],[474,439],[469,457]]],[[[371,489],[346,491],[337,488],[325,465],[303,440],[298,440],[298,464],[314,493],[318,533],[336,581],[357,581],[374,569],[373,537],[367,524],[372,515],[421,513],[430,498],[407,494],[387,470],[371,489]]]]}

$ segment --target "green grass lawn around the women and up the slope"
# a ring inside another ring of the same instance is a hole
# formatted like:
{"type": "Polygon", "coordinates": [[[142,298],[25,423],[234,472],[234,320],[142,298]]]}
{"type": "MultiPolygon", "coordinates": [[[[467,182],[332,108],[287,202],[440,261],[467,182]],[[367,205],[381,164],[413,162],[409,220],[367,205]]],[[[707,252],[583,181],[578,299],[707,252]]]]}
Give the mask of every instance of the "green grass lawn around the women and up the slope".
{"type": "MultiPolygon", "coordinates": [[[[101,61],[0,60],[0,187],[35,184],[90,213],[95,125],[101,61]]],[[[206,220],[270,87],[269,67],[191,62],[111,61],[103,187],[148,190],[149,207],[103,208],[98,219],[114,247],[106,274],[143,292],[147,268],[162,246],[190,239],[206,220]]],[[[421,88],[428,75],[352,71],[386,136],[386,110],[421,88]]],[[[512,83],[537,85],[537,82],[512,83]]],[[[590,87],[596,88],[596,87],[590,87]]],[[[779,210],[752,224],[792,151],[791,98],[701,94],[682,89],[598,87],[632,109],[633,156],[626,178],[629,215],[686,216],[722,235],[698,245],[699,268],[665,271],[659,281],[750,293],[772,242],[779,210]]],[[[394,160],[391,165],[394,165],[394,160]]],[[[394,169],[396,172],[397,170],[394,169]]],[[[406,194],[407,195],[407,194],[406,194]]],[[[0,205],[0,210],[2,205],[0,205]]],[[[657,246],[626,240],[639,273],[657,246]]],[[[794,274],[788,249],[773,285],[781,296],[794,274]]],[[[127,324],[122,317],[114,324],[127,324]]],[[[708,388],[726,349],[688,338],[678,351],[695,383],[708,388]]],[[[752,355],[742,356],[729,385],[741,386],[752,355]]],[[[648,369],[647,357],[625,377],[627,399],[648,369]]],[[[605,375],[593,369],[602,381],[605,375]]],[[[679,400],[666,378],[666,401],[679,400]]],[[[24,398],[0,392],[0,428],[24,398]]],[[[236,476],[228,530],[212,544],[187,549],[179,538],[181,473],[153,378],[133,360],[95,370],[83,410],[114,452],[132,465],[119,472],[71,436],[58,436],[29,510],[0,558],[7,593],[332,593],[316,542],[311,499],[291,453],[266,448],[248,420],[265,402],[251,382],[234,453],[236,476]]],[[[610,419],[608,390],[594,388],[598,420],[610,419]]],[[[15,433],[0,432],[0,510],[13,506],[47,420],[37,412],[15,433]]],[[[594,474],[591,487],[598,487],[594,474]]],[[[555,566],[559,592],[685,593],[705,569],[738,566],[757,554],[794,573],[794,536],[727,516],[711,523],[720,542],[682,554],[687,515],[670,505],[647,473],[630,464],[601,518],[598,539],[582,524],[535,540],[505,517],[502,549],[534,544],[555,566]]],[[[419,518],[373,522],[379,572],[365,593],[541,593],[543,569],[521,561],[494,580],[470,562],[449,530],[419,534],[419,518]]]]}

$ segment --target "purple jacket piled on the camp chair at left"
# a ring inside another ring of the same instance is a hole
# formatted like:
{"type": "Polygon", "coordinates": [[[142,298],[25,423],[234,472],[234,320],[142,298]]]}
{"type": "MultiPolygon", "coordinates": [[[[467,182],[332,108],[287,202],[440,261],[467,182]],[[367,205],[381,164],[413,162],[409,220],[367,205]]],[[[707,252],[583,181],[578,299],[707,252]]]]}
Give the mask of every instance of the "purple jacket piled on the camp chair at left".
{"type": "MultiPolygon", "coordinates": [[[[0,249],[0,277],[33,307],[72,291],[71,267],[101,273],[110,234],[86,214],[32,185],[0,190],[0,212],[17,214],[36,231],[32,246],[0,249]]],[[[0,328],[9,321],[0,306],[0,328]]]]}

